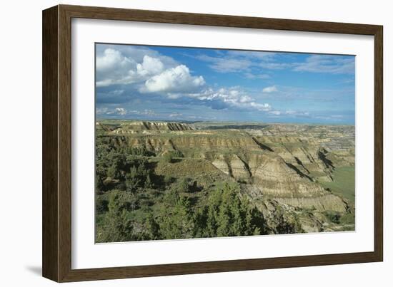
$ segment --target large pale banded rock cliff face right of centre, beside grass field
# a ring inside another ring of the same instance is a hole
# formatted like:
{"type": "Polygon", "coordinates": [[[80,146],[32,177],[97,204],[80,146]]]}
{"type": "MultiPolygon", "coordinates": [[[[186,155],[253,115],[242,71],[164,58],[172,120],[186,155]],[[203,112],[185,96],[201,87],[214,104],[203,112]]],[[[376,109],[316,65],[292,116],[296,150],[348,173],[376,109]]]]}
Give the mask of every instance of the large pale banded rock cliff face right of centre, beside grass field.
{"type": "Polygon", "coordinates": [[[246,167],[239,157],[226,162],[214,160],[213,165],[235,179],[252,178],[254,197],[269,197],[293,207],[346,212],[348,207],[340,197],[327,192],[309,177],[298,174],[277,155],[262,154],[246,167]],[[232,172],[230,172],[232,171],[232,172]]]}

